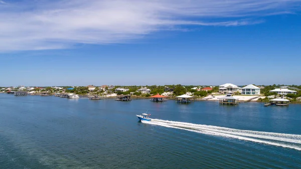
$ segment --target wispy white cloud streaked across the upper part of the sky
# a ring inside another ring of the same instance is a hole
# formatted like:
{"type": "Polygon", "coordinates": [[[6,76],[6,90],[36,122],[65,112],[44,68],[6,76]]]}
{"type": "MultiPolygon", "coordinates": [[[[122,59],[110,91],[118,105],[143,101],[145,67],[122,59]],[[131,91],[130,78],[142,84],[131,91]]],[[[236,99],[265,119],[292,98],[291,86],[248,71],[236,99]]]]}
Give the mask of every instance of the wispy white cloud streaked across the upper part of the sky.
{"type": "Polygon", "coordinates": [[[0,0],[0,51],[126,43],[177,26],[244,26],[293,13],[301,0],[0,0]],[[259,19],[258,19],[259,18],[259,19]]]}

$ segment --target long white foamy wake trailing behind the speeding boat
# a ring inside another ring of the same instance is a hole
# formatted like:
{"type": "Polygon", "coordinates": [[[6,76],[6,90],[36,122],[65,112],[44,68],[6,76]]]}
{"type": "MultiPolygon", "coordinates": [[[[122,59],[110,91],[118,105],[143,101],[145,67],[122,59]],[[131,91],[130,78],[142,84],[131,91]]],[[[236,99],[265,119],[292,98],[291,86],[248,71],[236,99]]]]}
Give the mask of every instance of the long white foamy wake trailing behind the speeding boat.
{"type": "Polygon", "coordinates": [[[269,145],[281,146],[285,148],[293,148],[301,150],[301,135],[283,134],[273,132],[239,130],[233,128],[186,123],[179,121],[168,121],[160,119],[152,119],[152,121],[142,120],[141,122],[147,124],[160,125],[169,128],[183,129],[203,134],[223,136],[229,138],[236,138],[240,140],[253,141],[269,145]]]}

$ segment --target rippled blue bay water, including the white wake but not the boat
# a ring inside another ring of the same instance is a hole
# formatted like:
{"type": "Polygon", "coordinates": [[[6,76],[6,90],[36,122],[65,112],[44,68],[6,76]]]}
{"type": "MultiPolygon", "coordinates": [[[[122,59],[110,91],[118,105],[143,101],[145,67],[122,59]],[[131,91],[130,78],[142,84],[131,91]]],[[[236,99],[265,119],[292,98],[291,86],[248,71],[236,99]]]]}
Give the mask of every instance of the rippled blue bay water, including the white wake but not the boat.
{"type": "Polygon", "coordinates": [[[0,168],[300,168],[300,135],[298,104],[0,94],[0,168]]]}

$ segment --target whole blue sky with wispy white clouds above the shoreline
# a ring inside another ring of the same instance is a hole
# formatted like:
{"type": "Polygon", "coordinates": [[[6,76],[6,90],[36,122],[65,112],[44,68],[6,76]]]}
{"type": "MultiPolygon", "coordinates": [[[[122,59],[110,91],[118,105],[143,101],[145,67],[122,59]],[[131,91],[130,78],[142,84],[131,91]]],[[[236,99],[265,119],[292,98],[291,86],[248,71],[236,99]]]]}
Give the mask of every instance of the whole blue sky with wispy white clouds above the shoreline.
{"type": "Polygon", "coordinates": [[[0,86],[301,85],[301,1],[0,1],[0,86]]]}

